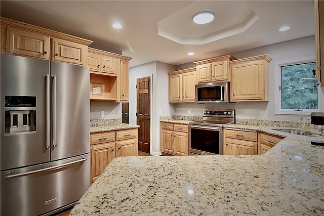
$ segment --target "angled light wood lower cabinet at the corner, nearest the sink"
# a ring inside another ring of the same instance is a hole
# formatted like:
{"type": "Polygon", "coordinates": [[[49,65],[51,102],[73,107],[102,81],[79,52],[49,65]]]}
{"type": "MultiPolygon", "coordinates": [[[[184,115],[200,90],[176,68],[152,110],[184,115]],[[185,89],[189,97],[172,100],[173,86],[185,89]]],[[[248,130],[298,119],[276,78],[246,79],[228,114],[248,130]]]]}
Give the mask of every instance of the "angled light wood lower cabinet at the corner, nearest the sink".
{"type": "Polygon", "coordinates": [[[258,132],[258,154],[264,154],[280,142],[282,137],[258,132]]]}

